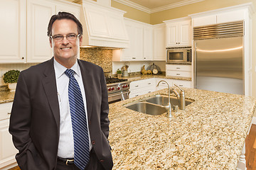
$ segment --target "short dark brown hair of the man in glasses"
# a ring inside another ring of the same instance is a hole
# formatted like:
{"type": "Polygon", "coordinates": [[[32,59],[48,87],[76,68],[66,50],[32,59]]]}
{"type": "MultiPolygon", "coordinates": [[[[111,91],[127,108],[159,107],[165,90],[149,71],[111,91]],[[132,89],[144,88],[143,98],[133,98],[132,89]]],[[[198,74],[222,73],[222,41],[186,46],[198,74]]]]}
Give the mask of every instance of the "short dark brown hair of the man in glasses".
{"type": "Polygon", "coordinates": [[[57,15],[53,15],[50,18],[49,24],[48,24],[48,30],[47,30],[47,36],[50,37],[52,33],[52,28],[53,28],[53,23],[56,20],[62,20],[62,19],[69,19],[74,21],[77,26],[78,26],[78,34],[82,35],[82,24],[78,20],[78,18],[75,18],[75,16],[72,13],[67,13],[67,12],[58,12],[57,15]]]}

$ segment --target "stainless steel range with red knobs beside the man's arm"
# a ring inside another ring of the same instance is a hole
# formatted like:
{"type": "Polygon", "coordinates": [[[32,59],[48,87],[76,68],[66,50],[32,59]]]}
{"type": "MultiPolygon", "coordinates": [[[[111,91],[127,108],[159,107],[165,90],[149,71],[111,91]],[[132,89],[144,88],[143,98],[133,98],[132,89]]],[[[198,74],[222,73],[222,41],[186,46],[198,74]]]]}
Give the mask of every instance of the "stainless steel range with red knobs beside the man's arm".
{"type": "Polygon", "coordinates": [[[127,79],[106,77],[106,83],[109,103],[124,101],[129,98],[129,84],[131,81],[127,81],[127,79]]]}

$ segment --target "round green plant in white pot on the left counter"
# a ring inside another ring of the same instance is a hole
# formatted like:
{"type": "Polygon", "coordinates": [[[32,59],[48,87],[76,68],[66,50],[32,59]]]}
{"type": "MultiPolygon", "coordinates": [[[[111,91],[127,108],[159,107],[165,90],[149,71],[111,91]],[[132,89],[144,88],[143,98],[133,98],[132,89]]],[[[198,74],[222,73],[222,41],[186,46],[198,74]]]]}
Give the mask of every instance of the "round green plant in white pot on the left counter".
{"type": "Polygon", "coordinates": [[[19,74],[20,71],[14,69],[9,70],[4,74],[4,83],[8,84],[8,88],[10,89],[10,91],[15,91],[19,74]]]}

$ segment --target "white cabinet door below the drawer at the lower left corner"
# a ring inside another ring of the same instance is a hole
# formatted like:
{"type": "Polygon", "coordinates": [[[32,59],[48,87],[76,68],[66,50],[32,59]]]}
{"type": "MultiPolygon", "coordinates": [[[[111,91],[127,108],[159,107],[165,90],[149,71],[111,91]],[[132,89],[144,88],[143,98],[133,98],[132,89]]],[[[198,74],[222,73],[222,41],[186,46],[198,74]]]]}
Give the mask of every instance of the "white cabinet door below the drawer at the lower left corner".
{"type": "Polygon", "coordinates": [[[16,162],[18,150],[14,147],[9,133],[9,119],[0,120],[0,169],[16,162]]]}

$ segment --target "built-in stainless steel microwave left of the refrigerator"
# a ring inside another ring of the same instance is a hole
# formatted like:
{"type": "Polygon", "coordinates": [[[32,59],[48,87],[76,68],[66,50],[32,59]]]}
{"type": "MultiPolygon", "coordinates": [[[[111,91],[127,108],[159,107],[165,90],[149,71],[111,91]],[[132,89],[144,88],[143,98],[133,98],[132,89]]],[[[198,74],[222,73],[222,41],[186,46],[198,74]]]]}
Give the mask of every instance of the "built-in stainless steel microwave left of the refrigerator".
{"type": "Polygon", "coordinates": [[[166,62],[191,62],[191,47],[166,48],[166,62]]]}

